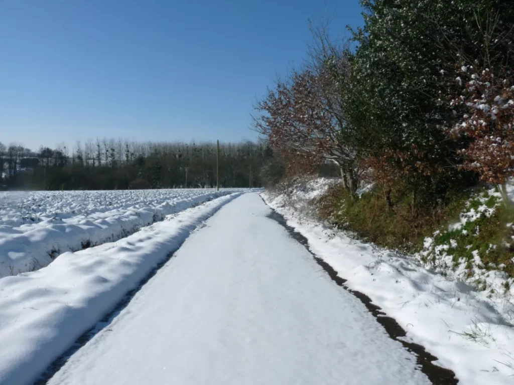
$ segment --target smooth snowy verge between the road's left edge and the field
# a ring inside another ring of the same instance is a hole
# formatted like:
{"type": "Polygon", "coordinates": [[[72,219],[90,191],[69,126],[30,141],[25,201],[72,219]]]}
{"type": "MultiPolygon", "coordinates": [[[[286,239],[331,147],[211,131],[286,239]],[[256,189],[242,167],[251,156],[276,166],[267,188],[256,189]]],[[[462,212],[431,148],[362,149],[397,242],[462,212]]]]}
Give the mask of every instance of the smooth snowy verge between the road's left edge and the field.
{"type": "Polygon", "coordinates": [[[118,242],[65,253],[0,280],[0,383],[39,374],[219,208],[242,192],[187,209],[118,242]]]}

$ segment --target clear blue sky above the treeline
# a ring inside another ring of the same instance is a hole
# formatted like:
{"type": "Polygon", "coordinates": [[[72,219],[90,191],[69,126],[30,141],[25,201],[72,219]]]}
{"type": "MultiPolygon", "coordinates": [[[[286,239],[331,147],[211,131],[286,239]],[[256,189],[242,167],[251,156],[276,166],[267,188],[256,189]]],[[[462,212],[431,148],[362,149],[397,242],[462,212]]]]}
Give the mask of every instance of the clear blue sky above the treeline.
{"type": "Polygon", "coordinates": [[[0,142],[254,139],[252,104],[358,0],[0,1],[0,142]]]}

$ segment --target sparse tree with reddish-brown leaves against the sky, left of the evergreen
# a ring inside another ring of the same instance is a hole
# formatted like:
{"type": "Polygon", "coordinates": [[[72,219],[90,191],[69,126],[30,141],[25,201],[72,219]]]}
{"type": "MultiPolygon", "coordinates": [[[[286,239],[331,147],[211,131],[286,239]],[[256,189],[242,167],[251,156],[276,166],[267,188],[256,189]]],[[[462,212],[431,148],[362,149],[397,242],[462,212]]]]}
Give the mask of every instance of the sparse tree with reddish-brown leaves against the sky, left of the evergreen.
{"type": "Polygon", "coordinates": [[[256,105],[254,125],[285,155],[311,165],[334,162],[345,186],[355,192],[357,153],[341,141],[345,119],[338,88],[338,78],[325,66],[295,71],[256,105]]]}

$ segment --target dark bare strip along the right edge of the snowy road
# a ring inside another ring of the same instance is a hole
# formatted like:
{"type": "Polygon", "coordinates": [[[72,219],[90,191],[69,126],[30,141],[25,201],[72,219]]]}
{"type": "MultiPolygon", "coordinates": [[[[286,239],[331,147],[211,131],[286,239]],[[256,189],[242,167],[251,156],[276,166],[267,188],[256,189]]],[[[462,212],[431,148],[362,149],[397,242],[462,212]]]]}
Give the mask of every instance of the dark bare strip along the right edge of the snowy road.
{"type": "Polygon", "coordinates": [[[383,328],[386,329],[386,332],[389,334],[389,337],[400,342],[409,352],[412,352],[416,355],[417,363],[421,367],[421,372],[425,373],[434,385],[455,385],[458,383],[458,379],[455,377],[455,373],[453,373],[449,369],[445,369],[435,365],[433,361],[437,360],[437,357],[428,353],[423,346],[399,339],[398,337],[405,337],[407,333],[405,332],[405,330],[401,328],[398,322],[396,322],[394,318],[388,317],[386,313],[382,312],[380,307],[373,304],[370,297],[366,296],[363,293],[348,288],[345,285],[346,280],[344,278],[339,277],[339,275],[331,265],[326,263],[323,259],[321,259],[311,251],[307,238],[305,238],[293,227],[289,226],[285,218],[281,214],[277,213],[277,211],[273,210],[271,207],[269,208],[271,209],[271,213],[268,215],[268,218],[277,221],[287,230],[291,238],[295,239],[300,244],[302,244],[307,249],[307,251],[314,257],[316,262],[330,276],[330,278],[332,278],[334,282],[336,282],[339,286],[343,287],[345,290],[347,290],[348,292],[352,293],[355,297],[360,299],[362,303],[366,306],[366,308],[370,311],[370,313],[373,314],[378,323],[380,323],[383,326],[383,328]]]}

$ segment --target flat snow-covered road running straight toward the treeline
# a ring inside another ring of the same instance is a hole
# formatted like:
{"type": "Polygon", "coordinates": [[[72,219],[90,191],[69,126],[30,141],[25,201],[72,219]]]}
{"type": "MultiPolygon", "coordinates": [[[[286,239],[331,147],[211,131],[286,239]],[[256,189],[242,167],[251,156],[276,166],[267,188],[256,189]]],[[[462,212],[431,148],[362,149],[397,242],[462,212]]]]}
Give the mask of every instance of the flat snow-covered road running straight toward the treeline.
{"type": "Polygon", "coordinates": [[[270,211],[221,208],[48,383],[430,383],[270,211]]]}

